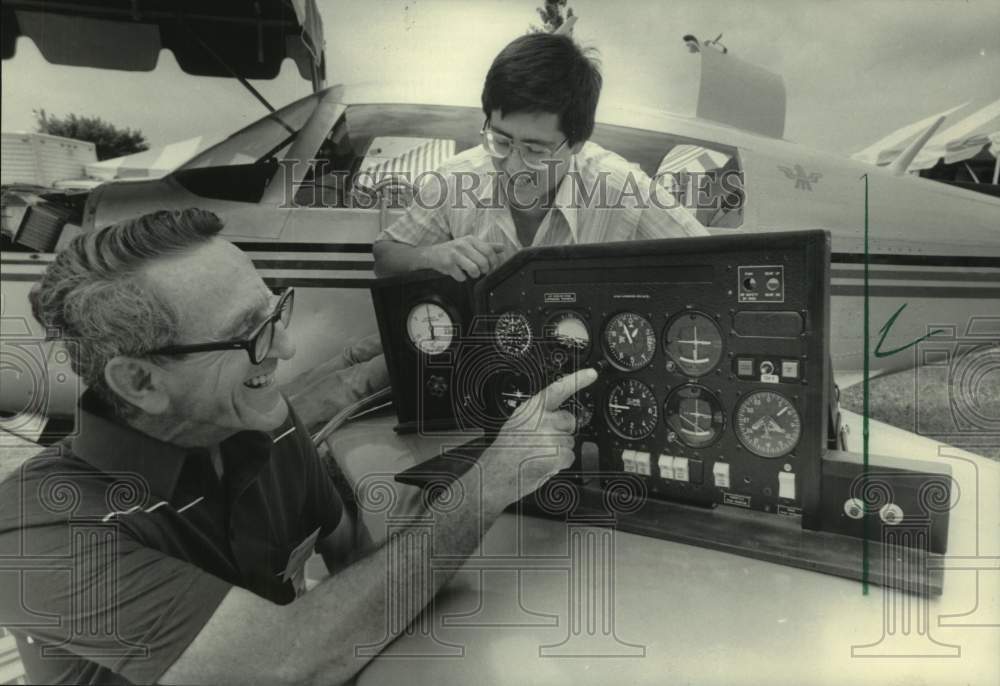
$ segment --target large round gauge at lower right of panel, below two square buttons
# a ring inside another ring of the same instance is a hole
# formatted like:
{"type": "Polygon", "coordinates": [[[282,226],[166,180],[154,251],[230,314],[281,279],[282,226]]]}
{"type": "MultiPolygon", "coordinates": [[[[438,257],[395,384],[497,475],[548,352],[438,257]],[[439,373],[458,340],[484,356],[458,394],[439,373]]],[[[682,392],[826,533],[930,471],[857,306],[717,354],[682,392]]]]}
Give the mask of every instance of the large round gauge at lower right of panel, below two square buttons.
{"type": "Polygon", "coordinates": [[[776,391],[755,391],[736,406],[736,437],[760,457],[792,452],[802,435],[802,420],[792,401],[776,391]]]}

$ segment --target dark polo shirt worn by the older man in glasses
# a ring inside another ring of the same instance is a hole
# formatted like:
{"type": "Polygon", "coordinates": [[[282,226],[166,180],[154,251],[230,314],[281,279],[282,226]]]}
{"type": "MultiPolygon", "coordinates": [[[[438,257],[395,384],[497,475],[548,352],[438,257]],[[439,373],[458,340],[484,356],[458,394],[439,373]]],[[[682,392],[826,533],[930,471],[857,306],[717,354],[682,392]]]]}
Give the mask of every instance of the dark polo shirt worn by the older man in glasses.
{"type": "Polygon", "coordinates": [[[232,586],[286,604],[341,501],[294,414],[208,452],[85,393],[79,434],[0,484],[0,625],[37,683],[154,683],[232,586]]]}

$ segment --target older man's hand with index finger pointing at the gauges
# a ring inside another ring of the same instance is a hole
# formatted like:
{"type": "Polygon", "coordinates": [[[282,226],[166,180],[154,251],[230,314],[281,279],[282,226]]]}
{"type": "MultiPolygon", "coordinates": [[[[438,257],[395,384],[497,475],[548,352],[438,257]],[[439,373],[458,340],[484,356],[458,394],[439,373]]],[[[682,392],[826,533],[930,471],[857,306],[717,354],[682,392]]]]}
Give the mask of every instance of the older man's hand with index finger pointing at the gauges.
{"type": "Polygon", "coordinates": [[[573,464],[576,418],[559,408],[595,379],[594,369],[581,369],[517,408],[479,460],[485,503],[503,509],[573,464]]]}

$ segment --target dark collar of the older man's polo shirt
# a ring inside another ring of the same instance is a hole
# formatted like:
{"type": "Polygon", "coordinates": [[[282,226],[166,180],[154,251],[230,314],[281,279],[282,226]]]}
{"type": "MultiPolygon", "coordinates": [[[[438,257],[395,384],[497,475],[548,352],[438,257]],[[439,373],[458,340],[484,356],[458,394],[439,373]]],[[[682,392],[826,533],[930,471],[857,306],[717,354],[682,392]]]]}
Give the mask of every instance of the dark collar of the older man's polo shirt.
{"type": "MultiPolygon", "coordinates": [[[[93,391],[80,399],[79,432],[73,438],[73,453],[103,472],[132,472],[142,475],[150,491],[170,499],[177,488],[181,470],[189,457],[208,459],[206,448],[182,448],[165,443],[124,424],[93,391]]],[[[288,419],[273,435],[241,431],[222,442],[226,473],[232,475],[236,493],[253,480],[271,454],[278,439],[294,431],[288,419]],[[238,456],[230,459],[229,456],[238,456]]]]}

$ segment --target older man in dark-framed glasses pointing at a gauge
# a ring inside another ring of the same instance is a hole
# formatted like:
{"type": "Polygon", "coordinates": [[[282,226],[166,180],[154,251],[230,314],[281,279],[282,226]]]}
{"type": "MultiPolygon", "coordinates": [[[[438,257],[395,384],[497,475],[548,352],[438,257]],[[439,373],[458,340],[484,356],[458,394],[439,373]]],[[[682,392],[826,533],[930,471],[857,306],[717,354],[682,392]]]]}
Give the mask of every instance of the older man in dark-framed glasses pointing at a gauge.
{"type": "MultiPolygon", "coordinates": [[[[0,484],[0,625],[33,681],[337,683],[391,630],[389,598],[443,583],[419,545],[390,567],[390,538],[305,592],[342,507],[275,387],[294,294],[269,291],[221,228],[187,210],[85,234],[33,292],[88,385],[78,434],[0,484]]],[[[470,553],[518,484],[570,464],[574,421],[557,408],[595,376],[527,403],[535,447],[505,427],[462,477],[466,500],[429,510],[434,555],[470,553]]]]}

